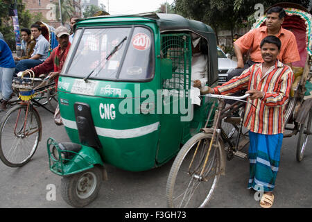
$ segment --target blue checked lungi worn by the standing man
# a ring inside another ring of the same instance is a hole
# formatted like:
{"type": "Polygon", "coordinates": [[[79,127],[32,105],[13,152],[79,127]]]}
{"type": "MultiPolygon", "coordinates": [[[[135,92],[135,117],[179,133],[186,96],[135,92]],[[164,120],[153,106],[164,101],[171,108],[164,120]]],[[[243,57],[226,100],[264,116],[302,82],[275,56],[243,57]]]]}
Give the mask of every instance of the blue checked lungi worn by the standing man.
{"type": "Polygon", "coordinates": [[[275,187],[283,134],[263,135],[249,132],[250,178],[248,189],[272,191],[275,187]]]}

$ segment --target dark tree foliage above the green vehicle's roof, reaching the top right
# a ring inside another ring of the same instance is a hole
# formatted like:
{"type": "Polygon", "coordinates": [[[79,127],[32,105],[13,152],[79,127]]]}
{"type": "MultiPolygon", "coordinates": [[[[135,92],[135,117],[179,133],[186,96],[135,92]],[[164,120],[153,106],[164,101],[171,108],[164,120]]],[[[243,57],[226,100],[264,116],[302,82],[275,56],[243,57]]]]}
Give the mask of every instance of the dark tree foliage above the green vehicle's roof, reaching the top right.
{"type": "MultiPolygon", "coordinates": [[[[309,7],[310,0],[286,0],[309,7]]],[[[284,2],[286,2],[284,1],[284,2]]],[[[180,15],[195,19],[214,28],[217,33],[220,29],[232,31],[234,28],[250,26],[254,22],[254,6],[263,5],[264,10],[281,0],[175,0],[174,9],[180,15]]]]}

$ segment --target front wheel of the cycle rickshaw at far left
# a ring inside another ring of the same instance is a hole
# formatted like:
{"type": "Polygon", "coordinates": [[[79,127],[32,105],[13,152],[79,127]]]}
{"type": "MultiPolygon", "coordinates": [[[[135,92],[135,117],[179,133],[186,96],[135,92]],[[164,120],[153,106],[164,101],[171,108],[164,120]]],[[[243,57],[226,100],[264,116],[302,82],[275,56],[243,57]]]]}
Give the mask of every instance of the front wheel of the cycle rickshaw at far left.
{"type": "Polygon", "coordinates": [[[27,105],[8,110],[0,126],[0,159],[8,167],[21,167],[33,157],[42,134],[40,116],[27,105]]]}

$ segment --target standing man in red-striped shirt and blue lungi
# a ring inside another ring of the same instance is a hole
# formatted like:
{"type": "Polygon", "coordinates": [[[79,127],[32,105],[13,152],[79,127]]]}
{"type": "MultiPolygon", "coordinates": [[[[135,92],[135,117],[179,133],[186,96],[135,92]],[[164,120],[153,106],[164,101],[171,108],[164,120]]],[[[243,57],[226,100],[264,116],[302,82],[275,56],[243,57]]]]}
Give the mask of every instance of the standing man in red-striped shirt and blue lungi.
{"type": "Polygon", "coordinates": [[[204,87],[202,94],[233,94],[248,89],[251,94],[245,106],[244,126],[250,130],[250,179],[248,188],[265,192],[261,207],[271,207],[279,155],[284,133],[284,112],[293,83],[293,71],[277,60],[281,49],[278,37],[269,35],[260,44],[263,63],[245,69],[241,76],[223,85],[204,87]]]}

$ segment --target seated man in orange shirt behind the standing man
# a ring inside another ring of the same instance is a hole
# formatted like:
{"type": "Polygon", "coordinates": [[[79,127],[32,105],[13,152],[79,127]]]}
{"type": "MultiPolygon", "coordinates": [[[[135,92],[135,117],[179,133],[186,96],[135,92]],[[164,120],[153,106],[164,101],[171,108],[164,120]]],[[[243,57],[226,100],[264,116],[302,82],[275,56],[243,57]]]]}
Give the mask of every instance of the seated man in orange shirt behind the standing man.
{"type": "Polygon", "coordinates": [[[255,28],[234,42],[234,51],[237,58],[237,68],[231,71],[227,76],[227,81],[234,76],[239,76],[245,69],[248,69],[254,63],[261,63],[260,42],[268,35],[275,35],[281,40],[281,49],[277,59],[291,67],[292,62],[300,61],[300,55],[297,49],[295,35],[281,27],[284,22],[286,12],[283,8],[277,6],[270,8],[267,12],[266,26],[255,28]],[[243,54],[250,51],[250,60],[245,65],[243,54]]]}

